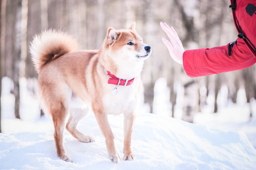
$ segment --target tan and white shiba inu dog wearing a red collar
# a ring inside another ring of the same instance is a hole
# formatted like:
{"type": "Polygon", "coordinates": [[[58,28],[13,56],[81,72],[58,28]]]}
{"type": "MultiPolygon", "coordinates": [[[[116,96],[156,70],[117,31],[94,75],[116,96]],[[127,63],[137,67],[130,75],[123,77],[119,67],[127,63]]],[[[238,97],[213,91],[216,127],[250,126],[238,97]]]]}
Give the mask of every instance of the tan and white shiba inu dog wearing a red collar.
{"type": "Polygon", "coordinates": [[[124,114],[124,160],[135,160],[131,138],[135,109],[141,91],[140,73],[152,53],[135,30],[107,29],[99,50],[77,50],[77,41],[62,31],[49,29],[33,37],[30,52],[38,75],[41,108],[51,114],[57,155],[73,162],[63,144],[65,128],[81,142],[94,138],[77,129],[79,121],[93,110],[106,139],[108,156],[120,161],[107,114],[124,114]],[[82,103],[80,108],[72,103],[82,103]],[[90,105],[85,107],[83,104],[90,105]]]}

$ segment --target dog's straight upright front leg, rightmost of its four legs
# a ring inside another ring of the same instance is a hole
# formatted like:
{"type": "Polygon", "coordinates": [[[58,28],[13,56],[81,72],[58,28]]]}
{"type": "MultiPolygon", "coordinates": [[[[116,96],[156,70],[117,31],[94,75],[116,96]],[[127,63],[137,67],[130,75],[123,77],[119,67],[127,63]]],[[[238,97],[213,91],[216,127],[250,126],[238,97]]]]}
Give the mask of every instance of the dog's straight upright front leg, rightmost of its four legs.
{"type": "Polygon", "coordinates": [[[124,113],[124,160],[135,160],[136,156],[132,153],[131,140],[132,131],[135,124],[136,114],[124,113]]]}

